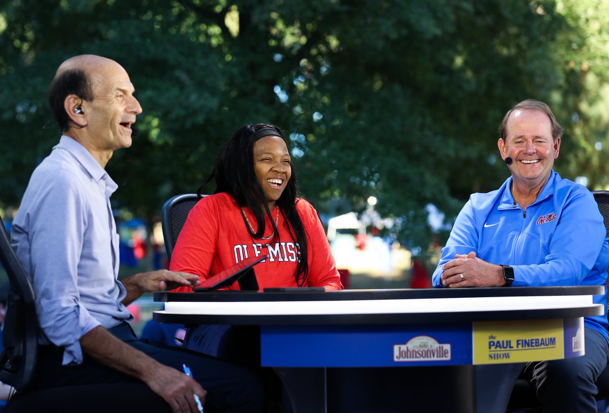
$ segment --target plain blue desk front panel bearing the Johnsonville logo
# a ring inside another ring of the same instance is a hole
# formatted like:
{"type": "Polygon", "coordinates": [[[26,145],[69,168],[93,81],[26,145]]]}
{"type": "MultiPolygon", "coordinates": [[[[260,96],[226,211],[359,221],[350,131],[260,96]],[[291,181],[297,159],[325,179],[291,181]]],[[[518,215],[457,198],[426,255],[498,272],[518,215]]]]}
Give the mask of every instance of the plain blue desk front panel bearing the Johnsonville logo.
{"type": "Polygon", "coordinates": [[[385,325],[261,326],[260,344],[261,364],[269,367],[472,364],[471,323],[438,324],[426,328],[385,325]],[[405,346],[415,337],[426,337],[426,342],[430,344],[426,354],[417,352],[417,356],[424,356],[425,359],[395,361],[394,347],[405,346]]]}

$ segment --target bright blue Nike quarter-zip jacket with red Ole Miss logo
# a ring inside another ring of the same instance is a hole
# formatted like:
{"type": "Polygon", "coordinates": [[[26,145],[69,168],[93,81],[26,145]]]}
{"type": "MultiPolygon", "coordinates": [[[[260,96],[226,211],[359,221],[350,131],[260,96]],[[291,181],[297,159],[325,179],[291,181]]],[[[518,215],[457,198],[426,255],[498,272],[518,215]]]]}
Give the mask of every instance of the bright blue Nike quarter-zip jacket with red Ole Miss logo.
{"type": "MultiPolygon", "coordinates": [[[[470,196],[442,249],[434,287],[442,287],[445,263],[472,251],[488,263],[512,266],[512,286],[605,286],[609,242],[592,193],[552,171],[535,202],[523,210],[511,187],[510,176],[496,191],[470,196]]],[[[605,295],[594,296],[605,314],[606,288],[605,295]]],[[[606,315],[585,317],[584,323],[609,342],[606,315]]]]}

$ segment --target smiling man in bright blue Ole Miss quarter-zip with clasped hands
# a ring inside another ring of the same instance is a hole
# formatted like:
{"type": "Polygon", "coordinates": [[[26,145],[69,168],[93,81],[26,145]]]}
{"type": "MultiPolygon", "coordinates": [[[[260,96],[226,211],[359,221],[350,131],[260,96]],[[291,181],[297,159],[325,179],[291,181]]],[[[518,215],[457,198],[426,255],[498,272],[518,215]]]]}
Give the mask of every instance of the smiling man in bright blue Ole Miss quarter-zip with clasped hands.
{"type": "MultiPolygon", "coordinates": [[[[507,112],[498,146],[512,176],[463,206],[432,277],[435,287],[605,285],[609,243],[594,197],[552,170],[562,132],[543,102],[523,101],[507,112]]],[[[603,296],[594,302],[606,306],[603,296]]],[[[585,356],[524,368],[544,412],[596,413],[594,382],[609,360],[607,317],[585,317],[584,325],[585,356]]],[[[509,390],[489,403],[505,411],[508,398],[509,390]]]]}

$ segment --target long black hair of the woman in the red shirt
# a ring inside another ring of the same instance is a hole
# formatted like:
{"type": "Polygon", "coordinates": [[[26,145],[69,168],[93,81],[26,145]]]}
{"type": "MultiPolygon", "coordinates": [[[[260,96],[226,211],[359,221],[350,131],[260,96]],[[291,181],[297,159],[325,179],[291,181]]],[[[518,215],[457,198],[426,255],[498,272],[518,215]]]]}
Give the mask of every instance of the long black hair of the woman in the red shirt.
{"type": "MultiPolygon", "coordinates": [[[[245,228],[252,238],[260,239],[264,235],[264,214],[270,218],[270,222],[273,225],[273,231],[275,235],[272,241],[278,237],[279,231],[275,225],[269,205],[262,191],[262,187],[256,178],[256,172],[254,171],[254,143],[258,139],[267,135],[277,135],[286,143],[289,151],[289,144],[286,138],[281,133],[281,130],[275,125],[271,124],[252,124],[245,125],[236,132],[233,133],[227,143],[225,143],[220,151],[216,155],[214,160],[214,171],[211,172],[209,177],[203,182],[203,185],[197,190],[197,194],[201,196],[203,187],[211,182],[216,181],[215,194],[219,192],[226,192],[232,196],[237,205],[244,207],[247,206],[258,223],[258,231],[253,233],[250,226],[244,219],[245,228]],[[264,131],[264,129],[270,129],[264,131]],[[264,206],[264,210],[262,209],[264,206]]],[[[307,277],[309,275],[309,263],[307,260],[307,242],[305,227],[298,215],[296,210],[296,196],[298,193],[298,180],[296,178],[296,171],[294,164],[290,161],[292,168],[292,175],[290,180],[286,183],[286,189],[284,189],[281,197],[277,200],[276,206],[280,208],[281,214],[284,217],[284,221],[287,221],[292,226],[293,230],[289,225],[285,224],[292,241],[300,246],[300,262],[298,263],[295,279],[298,286],[306,284],[307,277]]]]}

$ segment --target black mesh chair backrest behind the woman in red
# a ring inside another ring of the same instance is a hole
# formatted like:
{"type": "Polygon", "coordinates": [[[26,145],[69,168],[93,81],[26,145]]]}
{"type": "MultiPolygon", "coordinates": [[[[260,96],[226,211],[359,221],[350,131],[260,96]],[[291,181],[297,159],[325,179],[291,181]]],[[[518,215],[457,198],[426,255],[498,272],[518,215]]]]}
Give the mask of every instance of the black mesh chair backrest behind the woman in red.
{"type": "Polygon", "coordinates": [[[180,231],[186,222],[188,213],[199,202],[197,194],[181,194],[171,197],[161,211],[161,227],[163,227],[163,238],[165,240],[165,250],[167,259],[171,261],[171,254],[174,252],[175,241],[178,240],[180,231]]]}

